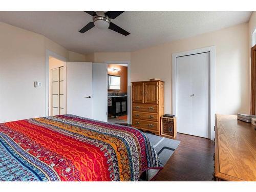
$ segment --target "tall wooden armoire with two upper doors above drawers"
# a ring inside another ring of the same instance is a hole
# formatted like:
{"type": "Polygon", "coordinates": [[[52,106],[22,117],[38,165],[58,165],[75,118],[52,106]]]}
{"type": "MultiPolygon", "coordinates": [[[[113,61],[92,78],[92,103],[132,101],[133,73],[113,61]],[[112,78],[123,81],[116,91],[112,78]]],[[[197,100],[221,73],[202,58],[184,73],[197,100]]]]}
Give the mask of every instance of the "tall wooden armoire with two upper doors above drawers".
{"type": "Polygon", "coordinates": [[[132,82],[132,126],[160,135],[164,114],[164,82],[132,82]]]}

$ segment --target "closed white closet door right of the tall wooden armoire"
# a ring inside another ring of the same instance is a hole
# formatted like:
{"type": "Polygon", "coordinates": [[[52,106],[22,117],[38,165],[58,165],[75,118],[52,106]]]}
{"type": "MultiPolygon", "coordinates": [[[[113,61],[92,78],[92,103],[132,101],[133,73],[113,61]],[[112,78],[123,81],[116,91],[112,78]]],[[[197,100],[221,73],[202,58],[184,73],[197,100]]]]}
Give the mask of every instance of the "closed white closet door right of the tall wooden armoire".
{"type": "Polygon", "coordinates": [[[177,57],[177,131],[209,138],[210,53],[177,57]]]}

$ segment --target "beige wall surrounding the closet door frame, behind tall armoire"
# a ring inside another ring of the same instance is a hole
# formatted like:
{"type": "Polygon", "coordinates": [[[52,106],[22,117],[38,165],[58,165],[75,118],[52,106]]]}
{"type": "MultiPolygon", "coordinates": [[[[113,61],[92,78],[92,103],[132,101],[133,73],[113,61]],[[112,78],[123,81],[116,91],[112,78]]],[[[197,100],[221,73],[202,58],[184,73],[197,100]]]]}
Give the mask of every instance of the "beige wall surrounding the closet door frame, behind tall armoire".
{"type": "Polygon", "coordinates": [[[165,81],[165,113],[172,113],[172,54],[216,46],[216,112],[249,112],[248,23],[131,53],[132,81],[165,81]]]}

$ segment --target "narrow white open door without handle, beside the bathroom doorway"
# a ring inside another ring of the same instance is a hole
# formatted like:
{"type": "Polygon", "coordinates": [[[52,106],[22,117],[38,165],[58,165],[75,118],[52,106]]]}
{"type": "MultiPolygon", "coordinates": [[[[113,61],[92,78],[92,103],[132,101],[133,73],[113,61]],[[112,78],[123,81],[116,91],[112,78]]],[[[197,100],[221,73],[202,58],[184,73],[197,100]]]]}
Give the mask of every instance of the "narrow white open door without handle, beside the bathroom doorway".
{"type": "Polygon", "coordinates": [[[92,118],[108,122],[108,66],[93,63],[93,112],[92,118]]]}

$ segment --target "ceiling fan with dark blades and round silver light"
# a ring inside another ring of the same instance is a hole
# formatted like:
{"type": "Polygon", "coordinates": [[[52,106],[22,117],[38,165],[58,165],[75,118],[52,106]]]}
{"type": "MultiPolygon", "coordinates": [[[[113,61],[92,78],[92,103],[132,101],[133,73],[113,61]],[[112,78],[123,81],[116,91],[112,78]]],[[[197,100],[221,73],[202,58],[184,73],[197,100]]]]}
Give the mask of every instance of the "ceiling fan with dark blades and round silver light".
{"type": "Polygon", "coordinates": [[[120,33],[124,36],[130,35],[131,33],[125,31],[124,29],[118,27],[117,25],[113,24],[111,22],[111,19],[115,19],[120,14],[122,14],[124,11],[84,11],[88,13],[89,15],[93,16],[93,22],[90,22],[86,26],[84,26],[79,32],[84,33],[88,30],[92,29],[94,26],[99,29],[111,29],[117,33],[120,33]]]}

